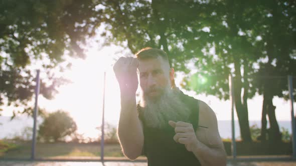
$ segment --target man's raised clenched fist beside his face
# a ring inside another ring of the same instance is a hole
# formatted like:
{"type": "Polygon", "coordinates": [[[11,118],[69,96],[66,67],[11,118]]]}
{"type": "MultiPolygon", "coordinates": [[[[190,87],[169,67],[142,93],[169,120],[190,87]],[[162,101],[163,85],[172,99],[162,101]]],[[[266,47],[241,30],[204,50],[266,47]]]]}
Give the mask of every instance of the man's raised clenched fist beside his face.
{"type": "Polygon", "coordinates": [[[113,66],[120,91],[124,94],[135,95],[138,87],[138,60],[133,57],[120,57],[113,66]]]}

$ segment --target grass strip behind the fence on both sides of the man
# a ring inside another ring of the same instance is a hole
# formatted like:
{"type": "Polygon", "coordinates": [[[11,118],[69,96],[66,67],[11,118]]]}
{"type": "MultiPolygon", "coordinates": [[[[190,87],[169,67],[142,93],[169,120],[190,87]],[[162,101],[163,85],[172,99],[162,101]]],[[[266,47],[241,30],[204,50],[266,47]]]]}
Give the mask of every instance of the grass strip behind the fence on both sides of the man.
{"type": "MultiPolygon", "coordinates": [[[[291,155],[291,142],[260,143],[237,141],[237,155],[291,155]]],[[[224,141],[225,150],[230,156],[231,142],[224,141]]],[[[99,159],[101,147],[99,143],[37,143],[36,158],[93,158],[99,159]]],[[[104,156],[123,157],[119,144],[105,144],[104,156]]],[[[31,142],[5,142],[0,140],[1,158],[30,158],[31,142]]]]}

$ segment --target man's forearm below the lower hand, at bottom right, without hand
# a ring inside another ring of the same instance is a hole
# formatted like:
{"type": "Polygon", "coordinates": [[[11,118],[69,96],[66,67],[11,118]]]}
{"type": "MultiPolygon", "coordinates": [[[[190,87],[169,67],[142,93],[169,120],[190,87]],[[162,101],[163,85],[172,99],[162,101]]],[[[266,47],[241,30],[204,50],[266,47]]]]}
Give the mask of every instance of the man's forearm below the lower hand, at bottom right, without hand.
{"type": "Polygon", "coordinates": [[[193,153],[201,165],[226,165],[226,152],[222,148],[211,148],[197,140],[193,153]]]}

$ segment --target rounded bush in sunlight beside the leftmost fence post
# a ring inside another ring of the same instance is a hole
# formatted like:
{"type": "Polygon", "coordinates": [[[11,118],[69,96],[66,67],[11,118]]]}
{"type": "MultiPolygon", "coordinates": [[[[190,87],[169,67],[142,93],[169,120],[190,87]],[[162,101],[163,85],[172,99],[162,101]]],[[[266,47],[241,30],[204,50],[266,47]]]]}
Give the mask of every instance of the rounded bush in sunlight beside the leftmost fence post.
{"type": "Polygon", "coordinates": [[[76,122],[68,112],[58,110],[49,113],[39,126],[39,138],[45,141],[57,141],[71,135],[77,129],[76,122]]]}

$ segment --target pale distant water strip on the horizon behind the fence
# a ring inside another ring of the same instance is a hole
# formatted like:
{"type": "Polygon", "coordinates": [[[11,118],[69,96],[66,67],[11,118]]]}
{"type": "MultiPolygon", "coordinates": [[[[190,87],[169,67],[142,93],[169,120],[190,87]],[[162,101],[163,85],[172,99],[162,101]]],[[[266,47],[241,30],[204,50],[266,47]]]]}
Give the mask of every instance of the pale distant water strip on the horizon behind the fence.
{"type": "MultiPolygon", "coordinates": [[[[250,125],[256,124],[258,127],[261,127],[260,120],[250,120],[249,124],[250,125]]],[[[279,124],[279,128],[284,127],[288,129],[289,133],[291,133],[290,121],[278,121],[278,124],[279,124]]],[[[20,116],[13,120],[10,120],[9,116],[0,116],[0,139],[5,137],[12,138],[16,134],[20,135],[20,133],[24,130],[25,127],[33,127],[32,117],[20,116]]],[[[218,120],[218,128],[219,128],[220,136],[222,138],[231,138],[231,120],[218,120]]],[[[237,138],[239,136],[240,136],[239,124],[238,124],[238,121],[235,121],[235,137],[237,138]]]]}

